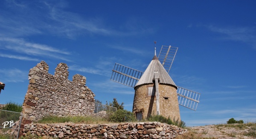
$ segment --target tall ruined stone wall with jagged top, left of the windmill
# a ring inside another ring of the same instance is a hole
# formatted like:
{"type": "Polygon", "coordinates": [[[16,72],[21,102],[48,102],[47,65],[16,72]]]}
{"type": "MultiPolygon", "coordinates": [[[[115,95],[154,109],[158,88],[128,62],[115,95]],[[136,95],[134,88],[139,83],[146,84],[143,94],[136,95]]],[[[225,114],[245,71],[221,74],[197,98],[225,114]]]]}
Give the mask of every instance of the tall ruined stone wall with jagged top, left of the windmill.
{"type": "Polygon", "coordinates": [[[68,80],[67,64],[60,63],[55,75],[48,73],[49,66],[41,61],[29,71],[29,86],[23,103],[25,120],[37,121],[46,116],[92,115],[94,93],[85,86],[86,78],[74,75],[68,80]]]}

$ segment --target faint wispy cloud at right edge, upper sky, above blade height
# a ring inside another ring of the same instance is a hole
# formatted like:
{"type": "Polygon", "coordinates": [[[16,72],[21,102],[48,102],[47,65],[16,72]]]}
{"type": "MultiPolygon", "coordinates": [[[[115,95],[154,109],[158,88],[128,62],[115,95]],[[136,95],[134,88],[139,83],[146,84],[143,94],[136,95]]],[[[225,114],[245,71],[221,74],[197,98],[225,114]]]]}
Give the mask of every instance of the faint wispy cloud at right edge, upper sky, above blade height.
{"type": "Polygon", "coordinates": [[[225,27],[220,28],[213,25],[206,26],[210,31],[223,34],[221,39],[245,42],[256,50],[256,28],[255,27],[225,27]]]}

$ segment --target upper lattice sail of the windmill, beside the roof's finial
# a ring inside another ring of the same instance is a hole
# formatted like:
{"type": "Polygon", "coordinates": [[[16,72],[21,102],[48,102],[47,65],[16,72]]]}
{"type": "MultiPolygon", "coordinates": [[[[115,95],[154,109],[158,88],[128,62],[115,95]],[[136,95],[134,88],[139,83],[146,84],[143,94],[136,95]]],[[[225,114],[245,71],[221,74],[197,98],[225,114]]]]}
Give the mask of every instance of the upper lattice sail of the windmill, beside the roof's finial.
{"type": "Polygon", "coordinates": [[[177,53],[178,48],[170,46],[163,46],[160,50],[160,53],[158,55],[159,61],[162,63],[164,69],[166,69],[167,73],[169,73],[172,62],[175,58],[175,55],[177,53]]]}

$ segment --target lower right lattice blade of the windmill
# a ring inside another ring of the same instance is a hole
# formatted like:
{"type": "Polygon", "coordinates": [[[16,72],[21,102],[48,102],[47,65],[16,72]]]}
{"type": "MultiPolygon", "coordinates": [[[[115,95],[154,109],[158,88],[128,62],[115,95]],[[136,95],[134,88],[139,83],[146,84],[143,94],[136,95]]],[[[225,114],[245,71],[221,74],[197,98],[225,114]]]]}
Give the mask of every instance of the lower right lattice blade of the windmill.
{"type": "Polygon", "coordinates": [[[181,106],[196,111],[199,103],[200,93],[177,86],[178,103],[181,106]]]}

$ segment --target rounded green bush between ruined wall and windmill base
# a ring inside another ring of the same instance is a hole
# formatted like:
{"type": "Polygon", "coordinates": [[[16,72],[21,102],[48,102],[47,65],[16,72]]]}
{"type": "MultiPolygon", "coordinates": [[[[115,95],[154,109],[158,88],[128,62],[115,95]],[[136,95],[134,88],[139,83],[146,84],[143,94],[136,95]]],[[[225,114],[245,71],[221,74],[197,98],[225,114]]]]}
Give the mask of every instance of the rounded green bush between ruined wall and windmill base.
{"type": "Polygon", "coordinates": [[[131,122],[136,121],[134,113],[119,109],[109,116],[110,122],[131,122]]]}

